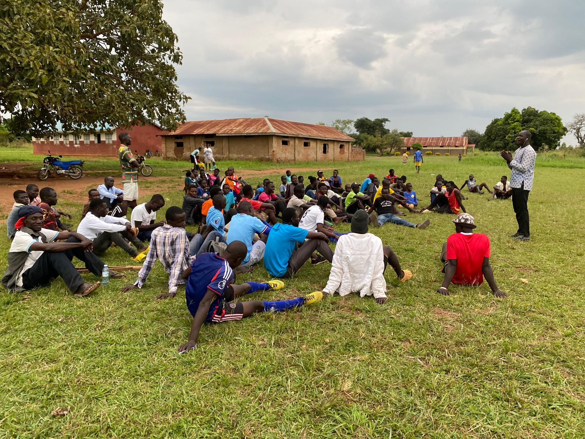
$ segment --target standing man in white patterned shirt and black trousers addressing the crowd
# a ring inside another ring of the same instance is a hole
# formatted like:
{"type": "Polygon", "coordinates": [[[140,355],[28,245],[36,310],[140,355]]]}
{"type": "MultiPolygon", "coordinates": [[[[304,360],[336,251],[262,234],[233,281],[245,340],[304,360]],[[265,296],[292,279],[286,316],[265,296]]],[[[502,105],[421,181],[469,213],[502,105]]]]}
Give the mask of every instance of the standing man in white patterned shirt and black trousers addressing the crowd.
{"type": "Polygon", "coordinates": [[[520,147],[512,155],[504,150],[500,151],[502,158],[508,163],[512,170],[510,176],[510,187],[512,188],[512,206],[516,212],[516,221],[518,221],[518,231],[510,235],[520,241],[530,240],[530,219],[528,216],[528,194],[532,189],[532,180],[534,179],[534,163],[536,161],[536,152],[530,145],[531,132],[521,131],[516,143],[520,147]]]}

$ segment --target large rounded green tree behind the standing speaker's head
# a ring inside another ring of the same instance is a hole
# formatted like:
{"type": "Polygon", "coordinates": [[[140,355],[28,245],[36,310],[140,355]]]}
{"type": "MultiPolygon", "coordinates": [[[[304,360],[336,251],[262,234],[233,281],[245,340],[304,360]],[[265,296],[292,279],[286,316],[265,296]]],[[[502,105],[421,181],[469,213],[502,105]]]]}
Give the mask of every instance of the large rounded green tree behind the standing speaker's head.
{"type": "Polygon", "coordinates": [[[486,127],[479,148],[486,151],[513,150],[516,136],[524,129],[532,133],[531,145],[537,150],[543,145],[549,149],[558,148],[560,139],[567,133],[563,121],[555,113],[532,107],[522,111],[512,108],[503,118],[493,119],[486,127]]]}

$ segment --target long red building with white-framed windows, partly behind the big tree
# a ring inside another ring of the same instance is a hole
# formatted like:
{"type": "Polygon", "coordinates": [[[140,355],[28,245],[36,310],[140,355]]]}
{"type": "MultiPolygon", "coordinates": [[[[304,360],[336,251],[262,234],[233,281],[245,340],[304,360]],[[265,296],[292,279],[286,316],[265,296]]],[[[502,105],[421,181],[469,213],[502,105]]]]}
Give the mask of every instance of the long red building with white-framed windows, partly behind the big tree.
{"type": "Polygon", "coordinates": [[[153,153],[156,150],[161,152],[161,135],[167,134],[156,124],[134,125],[130,128],[102,128],[91,133],[67,133],[57,131],[53,136],[46,138],[33,137],[33,153],[46,155],[50,150],[51,154],[74,156],[117,156],[120,142],[119,133],[127,132],[132,138],[132,151],[137,150],[139,154],[150,149],[153,153]]]}

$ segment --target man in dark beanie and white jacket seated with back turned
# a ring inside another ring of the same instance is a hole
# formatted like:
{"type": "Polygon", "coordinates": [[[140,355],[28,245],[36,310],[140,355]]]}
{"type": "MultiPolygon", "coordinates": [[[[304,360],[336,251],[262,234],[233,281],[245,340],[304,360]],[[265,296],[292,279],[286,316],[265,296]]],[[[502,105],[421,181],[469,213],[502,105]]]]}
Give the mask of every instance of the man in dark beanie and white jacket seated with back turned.
{"type": "Polygon", "coordinates": [[[356,292],[360,297],[374,296],[376,303],[383,304],[386,302],[384,270],[388,262],[402,282],[411,279],[412,273],[401,269],[390,246],[368,233],[369,219],[366,211],[358,210],[352,218],[352,232],[339,236],[329,280],[323,289],[324,297],[335,291],[340,296],[356,292]]]}

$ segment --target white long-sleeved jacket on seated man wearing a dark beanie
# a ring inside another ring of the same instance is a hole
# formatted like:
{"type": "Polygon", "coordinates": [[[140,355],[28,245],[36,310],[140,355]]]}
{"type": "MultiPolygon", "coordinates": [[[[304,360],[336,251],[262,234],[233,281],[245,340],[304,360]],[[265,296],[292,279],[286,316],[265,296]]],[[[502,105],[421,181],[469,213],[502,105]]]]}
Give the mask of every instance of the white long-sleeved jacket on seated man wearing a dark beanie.
{"type": "Polygon", "coordinates": [[[324,293],[386,297],[382,240],[371,233],[339,236],[324,293]]]}

